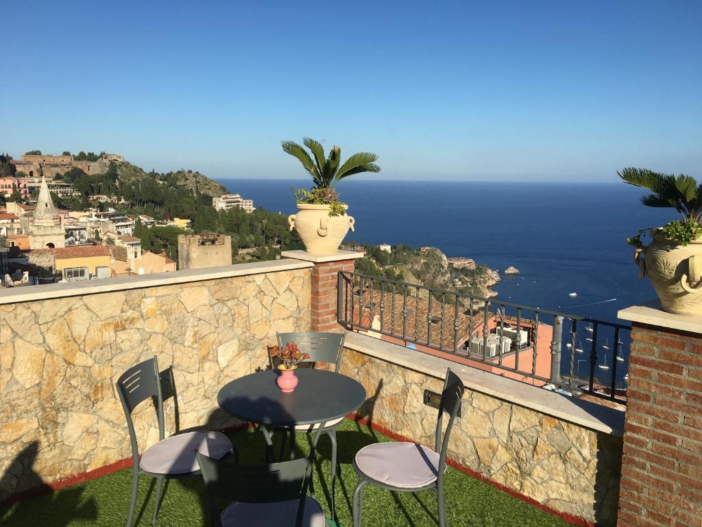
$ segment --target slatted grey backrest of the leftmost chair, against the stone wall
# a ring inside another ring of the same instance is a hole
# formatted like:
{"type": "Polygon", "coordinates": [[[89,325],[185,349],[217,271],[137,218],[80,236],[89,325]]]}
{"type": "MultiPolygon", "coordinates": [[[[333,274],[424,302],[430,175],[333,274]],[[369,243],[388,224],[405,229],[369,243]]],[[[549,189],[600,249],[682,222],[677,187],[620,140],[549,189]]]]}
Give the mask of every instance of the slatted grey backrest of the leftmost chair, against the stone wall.
{"type": "Polygon", "coordinates": [[[129,439],[131,441],[132,455],[135,467],[138,466],[139,448],[134,431],[131,414],[134,408],[148,398],[156,398],[156,414],[159,419],[159,440],[164,438],[164,399],[161,393],[161,379],[159,377],[159,361],[153,358],[132,366],[119,376],[117,382],[119,401],[124,409],[127,420],[129,439]]]}

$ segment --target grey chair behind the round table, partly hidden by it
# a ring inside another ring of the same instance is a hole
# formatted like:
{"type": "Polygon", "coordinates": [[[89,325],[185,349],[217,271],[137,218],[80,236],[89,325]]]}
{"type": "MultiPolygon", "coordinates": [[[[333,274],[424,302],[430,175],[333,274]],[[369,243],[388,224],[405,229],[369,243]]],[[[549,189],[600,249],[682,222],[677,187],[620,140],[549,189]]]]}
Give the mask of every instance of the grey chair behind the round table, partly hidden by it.
{"type": "MultiPolygon", "coordinates": [[[[298,349],[305,353],[310,354],[310,358],[305,361],[305,363],[313,366],[314,363],[327,363],[332,364],[334,367],[334,372],[339,372],[339,367],[341,365],[341,351],[344,348],[344,333],[321,333],[321,332],[293,332],[293,333],[278,333],[278,346],[286,346],[290,342],[294,342],[298,345],[298,349]]],[[[271,358],[271,366],[274,367],[275,360],[271,358]]],[[[322,394],[320,394],[322,395],[322,394]]],[[[336,481],[336,427],[344,420],[343,417],[338,419],[333,419],[332,421],[327,421],[324,423],[314,423],[314,424],[298,424],[295,427],[295,433],[297,434],[312,434],[316,432],[319,427],[322,427],[321,434],[315,434],[312,447],[317,448],[317,441],[322,434],[329,436],[329,441],[331,441],[331,517],[336,521],[336,507],[334,506],[334,483],[336,481]]],[[[291,431],[290,434],[290,448],[291,457],[293,456],[295,438],[291,431]]],[[[281,453],[285,447],[283,443],[281,448],[281,453]]]]}

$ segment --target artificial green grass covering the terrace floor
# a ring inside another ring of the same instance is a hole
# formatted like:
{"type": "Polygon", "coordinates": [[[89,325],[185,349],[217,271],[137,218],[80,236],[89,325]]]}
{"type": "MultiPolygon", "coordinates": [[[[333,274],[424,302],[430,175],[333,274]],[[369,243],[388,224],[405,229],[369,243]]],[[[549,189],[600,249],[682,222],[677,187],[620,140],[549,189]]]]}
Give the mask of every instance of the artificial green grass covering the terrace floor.
{"type": "MultiPolygon", "coordinates": [[[[281,436],[281,434],[277,434],[281,436]]],[[[254,429],[231,436],[241,462],[264,460],[263,436],[254,429]]],[[[392,441],[366,427],[345,420],[337,431],[338,457],[343,482],[337,479],[336,510],[340,524],[352,525],[350,505],[357,477],[352,459],[357,450],[377,441],[392,441]]],[[[125,436],[126,441],[126,436],[125,436]]],[[[308,451],[305,436],[298,434],[300,450],[308,451]]],[[[314,470],[317,500],[329,516],[329,438],[319,440],[314,470]],[[320,476],[323,475],[323,479],[320,476]]],[[[82,527],[121,526],[126,521],[131,489],[131,469],[124,469],[102,478],[81,483],[55,493],[34,497],[0,509],[0,525],[4,527],[82,527]]],[[[151,523],[154,495],[153,479],[140,479],[139,500],[134,526],[151,523]],[[147,501],[145,503],[145,498],[147,501]],[[141,511],[141,514],[140,514],[141,511]]],[[[551,516],[515,497],[503,493],[461,471],[449,468],[446,473],[446,509],[451,527],[552,527],[569,523],[551,516]]],[[[431,491],[422,493],[390,493],[366,485],[363,507],[364,527],[430,527],[437,526],[437,500],[431,491]]],[[[204,485],[199,476],[168,482],[159,512],[159,526],[209,526],[208,505],[204,485]]],[[[252,526],[253,527],[253,526],[252,526]]]]}

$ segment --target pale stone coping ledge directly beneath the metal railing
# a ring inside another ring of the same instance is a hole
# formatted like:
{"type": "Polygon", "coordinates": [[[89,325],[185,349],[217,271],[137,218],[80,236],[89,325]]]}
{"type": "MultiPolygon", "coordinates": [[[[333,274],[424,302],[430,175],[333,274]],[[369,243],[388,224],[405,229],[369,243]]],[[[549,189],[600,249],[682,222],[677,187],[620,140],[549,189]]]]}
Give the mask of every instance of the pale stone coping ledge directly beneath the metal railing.
{"type": "Polygon", "coordinates": [[[407,367],[439,379],[446,378],[446,368],[461,377],[465,387],[488,396],[509,401],[524,408],[550,415],[581,427],[613,436],[624,434],[624,412],[590,401],[564,396],[531,384],[525,384],[475,367],[454,363],[445,358],[392,344],[368,335],[346,332],[344,346],[364,355],[407,367]]]}

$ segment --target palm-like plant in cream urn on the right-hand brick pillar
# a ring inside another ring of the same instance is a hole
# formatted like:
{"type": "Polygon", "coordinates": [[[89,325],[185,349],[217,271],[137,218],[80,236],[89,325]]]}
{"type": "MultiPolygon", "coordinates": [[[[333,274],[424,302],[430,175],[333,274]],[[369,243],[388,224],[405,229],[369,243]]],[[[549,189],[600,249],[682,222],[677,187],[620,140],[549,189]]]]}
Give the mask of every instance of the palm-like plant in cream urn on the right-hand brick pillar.
{"type": "Polygon", "coordinates": [[[682,216],[628,238],[635,247],[640,278],[649,277],[663,311],[702,315],[702,184],[684,174],[658,174],[647,169],[627,168],[617,174],[630,185],[652,191],[641,198],[642,204],[670,207],[682,216]],[[651,237],[649,245],[642,242],[645,233],[651,237]]]}

